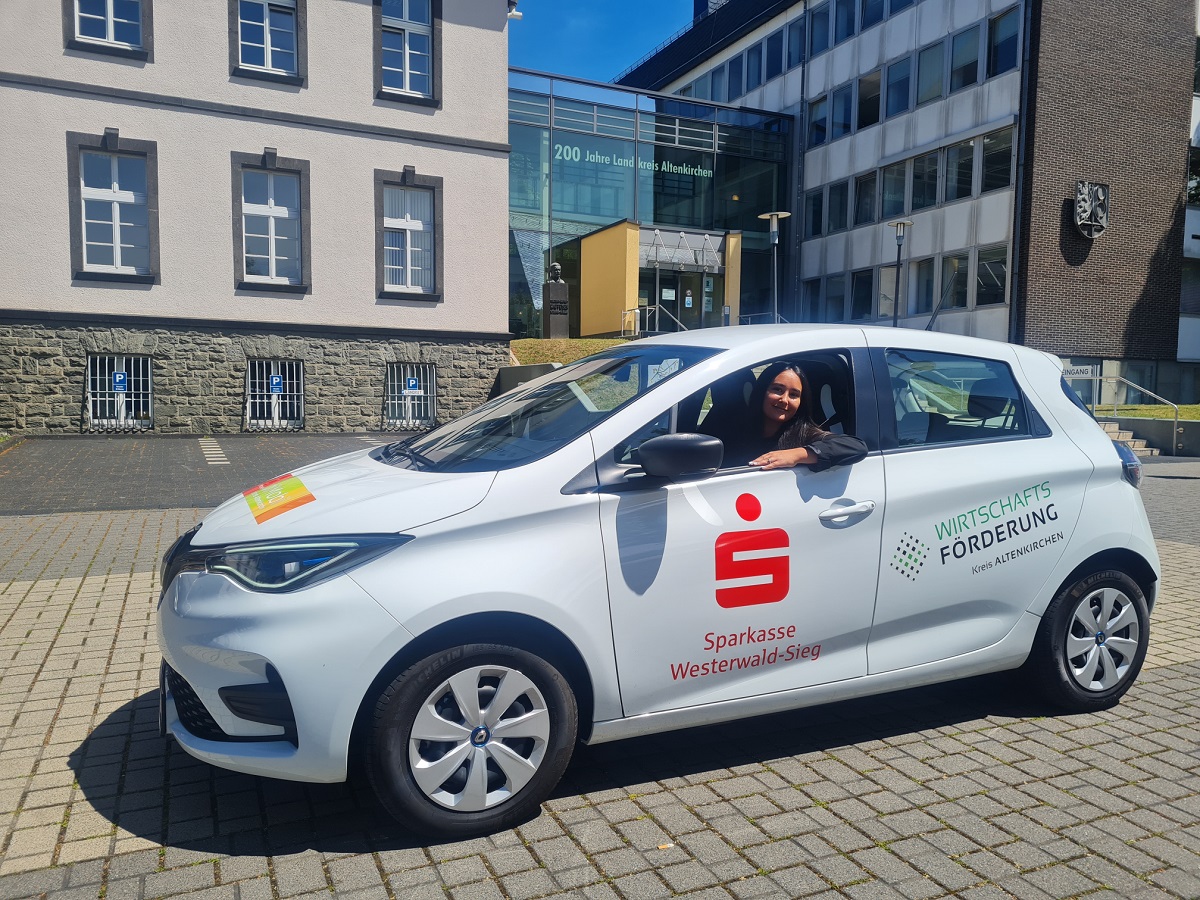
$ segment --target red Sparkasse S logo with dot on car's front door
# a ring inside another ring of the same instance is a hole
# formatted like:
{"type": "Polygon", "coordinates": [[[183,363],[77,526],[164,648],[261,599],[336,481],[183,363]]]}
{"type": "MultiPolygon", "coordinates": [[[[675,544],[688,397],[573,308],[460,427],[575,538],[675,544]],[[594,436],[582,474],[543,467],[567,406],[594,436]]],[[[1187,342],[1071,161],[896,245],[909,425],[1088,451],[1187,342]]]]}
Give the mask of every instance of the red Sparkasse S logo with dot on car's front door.
{"type": "MultiPolygon", "coordinates": [[[[762,504],[751,493],[738,497],[736,503],[738,515],[746,522],[754,522],[762,515],[762,504]]],[[[749,532],[726,532],[716,539],[714,552],[716,563],[716,583],[734,578],[757,578],[756,584],[738,584],[736,587],[718,587],[716,604],[725,608],[755,606],[757,604],[778,604],[791,587],[791,559],[787,554],[787,532],[782,528],[761,528],[749,532]],[[764,550],[782,551],[772,556],[755,556],[751,559],[738,558],[738,554],[764,550]],[[766,580],[766,581],[763,581],[766,580]]]]}

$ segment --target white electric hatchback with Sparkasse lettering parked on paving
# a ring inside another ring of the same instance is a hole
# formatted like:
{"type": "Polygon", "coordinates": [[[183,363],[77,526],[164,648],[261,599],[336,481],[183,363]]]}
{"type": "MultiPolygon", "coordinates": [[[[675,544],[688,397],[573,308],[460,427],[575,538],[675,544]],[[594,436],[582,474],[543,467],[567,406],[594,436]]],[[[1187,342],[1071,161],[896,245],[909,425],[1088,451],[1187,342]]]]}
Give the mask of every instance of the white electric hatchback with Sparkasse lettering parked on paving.
{"type": "Polygon", "coordinates": [[[1136,457],[1061,370],[910,330],[690,331],[281,475],[163,560],[163,727],[239,772],[364,766],[462,836],[535,815],[576,740],[1021,666],[1103,708],[1159,562],[1136,457]],[[865,458],[722,467],[778,360],[865,458]]]}

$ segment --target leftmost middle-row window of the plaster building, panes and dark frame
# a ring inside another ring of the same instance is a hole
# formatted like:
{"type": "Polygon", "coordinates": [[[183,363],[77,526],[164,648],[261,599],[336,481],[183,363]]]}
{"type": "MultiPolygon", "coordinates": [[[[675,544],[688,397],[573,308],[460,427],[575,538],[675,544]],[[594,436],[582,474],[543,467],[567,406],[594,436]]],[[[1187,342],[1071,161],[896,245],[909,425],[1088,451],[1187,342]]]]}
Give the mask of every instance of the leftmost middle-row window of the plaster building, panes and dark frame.
{"type": "Polygon", "coordinates": [[[73,277],[156,283],[157,144],[68,132],[67,176],[73,277]]]}

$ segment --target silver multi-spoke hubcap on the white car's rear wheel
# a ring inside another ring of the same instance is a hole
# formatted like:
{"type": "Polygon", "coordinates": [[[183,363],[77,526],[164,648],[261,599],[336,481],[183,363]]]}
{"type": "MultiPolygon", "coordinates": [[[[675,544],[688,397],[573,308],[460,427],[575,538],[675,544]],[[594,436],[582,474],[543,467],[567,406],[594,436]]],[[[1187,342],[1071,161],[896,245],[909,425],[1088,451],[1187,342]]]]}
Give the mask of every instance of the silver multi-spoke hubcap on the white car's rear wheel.
{"type": "Polygon", "coordinates": [[[1129,674],[1141,625],[1133,601],[1117,588],[1099,588],[1079,601],[1067,629],[1067,667],[1084,690],[1115,688],[1129,674]]]}

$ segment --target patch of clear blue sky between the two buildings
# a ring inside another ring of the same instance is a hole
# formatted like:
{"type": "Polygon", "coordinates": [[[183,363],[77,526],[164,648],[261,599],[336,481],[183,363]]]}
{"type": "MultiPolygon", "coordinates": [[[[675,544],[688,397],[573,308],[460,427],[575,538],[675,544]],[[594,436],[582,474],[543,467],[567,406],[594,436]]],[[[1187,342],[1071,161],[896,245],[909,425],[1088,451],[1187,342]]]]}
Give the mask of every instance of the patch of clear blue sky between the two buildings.
{"type": "Polygon", "coordinates": [[[610,82],[691,22],[692,0],[520,0],[509,65],[610,82]]]}

